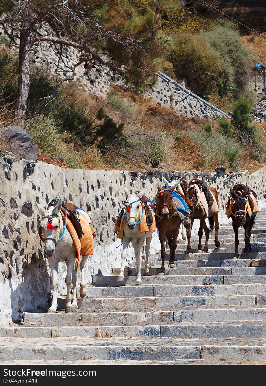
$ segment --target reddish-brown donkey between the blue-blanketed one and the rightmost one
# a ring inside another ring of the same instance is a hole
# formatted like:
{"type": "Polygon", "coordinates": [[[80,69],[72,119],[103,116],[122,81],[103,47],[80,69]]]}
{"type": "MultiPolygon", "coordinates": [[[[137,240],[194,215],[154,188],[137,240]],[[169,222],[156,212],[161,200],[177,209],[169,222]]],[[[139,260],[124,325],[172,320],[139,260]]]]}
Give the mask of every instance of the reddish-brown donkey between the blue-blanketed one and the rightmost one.
{"type": "MultiPolygon", "coordinates": [[[[212,188],[212,186],[208,186],[208,188],[213,193],[215,200],[217,201],[217,204],[218,204],[217,190],[215,188],[212,188]]],[[[198,253],[208,252],[208,241],[209,241],[210,232],[212,232],[213,227],[215,228],[215,239],[214,239],[215,246],[219,248],[220,247],[220,242],[218,240],[219,212],[209,213],[208,219],[210,222],[210,227],[208,228],[205,222],[205,217],[203,217],[202,215],[202,210],[198,208],[198,200],[195,193],[195,187],[193,185],[188,187],[187,193],[185,193],[185,195],[183,195],[180,191],[179,193],[184,198],[184,200],[186,201],[186,205],[191,211],[190,216],[186,218],[184,221],[184,227],[187,229],[186,237],[188,239],[188,249],[187,249],[188,257],[192,256],[190,239],[191,239],[191,229],[192,229],[194,220],[200,220],[200,229],[198,230],[198,237],[199,237],[198,253]],[[203,249],[202,249],[202,235],[203,235],[202,229],[204,230],[205,237],[206,237],[205,245],[203,249]]]]}

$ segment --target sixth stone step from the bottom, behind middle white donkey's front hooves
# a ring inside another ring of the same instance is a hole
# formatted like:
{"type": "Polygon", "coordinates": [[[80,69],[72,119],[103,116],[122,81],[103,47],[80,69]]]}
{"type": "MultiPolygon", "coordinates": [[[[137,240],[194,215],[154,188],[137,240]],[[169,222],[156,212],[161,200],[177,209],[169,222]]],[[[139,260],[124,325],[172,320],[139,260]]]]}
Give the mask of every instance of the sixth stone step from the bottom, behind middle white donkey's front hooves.
{"type": "MultiPolygon", "coordinates": [[[[256,267],[255,267],[256,269],[256,267]]],[[[99,286],[134,286],[137,276],[125,276],[124,281],[117,282],[117,276],[98,276],[92,278],[92,283],[99,286]]],[[[160,285],[180,285],[180,284],[252,284],[265,283],[266,274],[198,274],[198,275],[165,275],[165,276],[141,276],[142,284],[160,285]]]]}

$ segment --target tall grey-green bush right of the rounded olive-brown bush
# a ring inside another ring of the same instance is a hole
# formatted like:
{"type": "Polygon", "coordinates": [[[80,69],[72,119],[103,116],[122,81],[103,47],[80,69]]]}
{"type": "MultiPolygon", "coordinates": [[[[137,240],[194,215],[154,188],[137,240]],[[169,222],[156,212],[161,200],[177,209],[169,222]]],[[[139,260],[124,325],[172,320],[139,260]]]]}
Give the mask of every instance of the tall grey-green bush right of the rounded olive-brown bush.
{"type": "Polygon", "coordinates": [[[200,36],[219,52],[224,84],[245,90],[249,82],[249,52],[234,24],[217,25],[200,36]]]}

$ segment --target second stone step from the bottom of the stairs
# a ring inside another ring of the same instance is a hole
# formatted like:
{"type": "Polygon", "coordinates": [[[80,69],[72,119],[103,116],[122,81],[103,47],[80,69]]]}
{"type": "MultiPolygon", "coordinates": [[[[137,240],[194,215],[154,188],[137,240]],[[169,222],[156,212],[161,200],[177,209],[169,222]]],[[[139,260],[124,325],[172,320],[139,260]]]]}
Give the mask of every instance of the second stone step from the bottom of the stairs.
{"type": "Polygon", "coordinates": [[[117,326],[49,326],[11,328],[8,337],[58,338],[58,337],[161,337],[161,338],[266,338],[266,326],[261,322],[190,322],[159,325],[117,325],[117,326]],[[12,335],[11,335],[12,333],[12,335]]]}

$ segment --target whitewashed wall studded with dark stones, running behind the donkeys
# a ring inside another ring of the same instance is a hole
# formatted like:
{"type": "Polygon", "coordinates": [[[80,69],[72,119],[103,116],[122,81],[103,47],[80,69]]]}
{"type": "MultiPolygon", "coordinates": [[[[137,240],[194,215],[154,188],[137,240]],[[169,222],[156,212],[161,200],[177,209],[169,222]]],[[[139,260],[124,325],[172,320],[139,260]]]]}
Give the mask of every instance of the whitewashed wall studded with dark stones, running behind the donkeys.
{"type": "MultiPolygon", "coordinates": [[[[161,171],[139,174],[117,170],[63,169],[42,162],[0,160],[0,323],[18,320],[22,312],[48,308],[51,285],[50,270],[43,257],[43,245],[37,232],[37,212],[34,201],[43,206],[59,196],[79,205],[91,216],[97,229],[95,254],[86,263],[86,280],[91,275],[110,274],[112,267],[120,265],[120,240],[114,233],[115,218],[124,200],[124,186],[133,191],[145,189],[152,198],[157,184],[162,185],[161,171]]],[[[224,179],[198,173],[183,173],[203,177],[218,190],[220,221],[227,222],[224,215],[229,186],[246,183],[259,196],[264,207],[266,168],[253,174],[238,174],[224,179]],[[259,188],[260,187],[260,188],[259,188]]],[[[197,227],[197,226],[196,226],[197,227]]],[[[153,236],[151,252],[159,249],[158,235],[153,236]]],[[[185,250],[185,248],[184,248],[185,250]]],[[[133,250],[128,259],[132,259],[133,250]]],[[[66,269],[59,263],[59,293],[65,294],[66,269]]]]}

